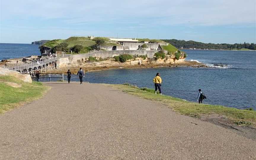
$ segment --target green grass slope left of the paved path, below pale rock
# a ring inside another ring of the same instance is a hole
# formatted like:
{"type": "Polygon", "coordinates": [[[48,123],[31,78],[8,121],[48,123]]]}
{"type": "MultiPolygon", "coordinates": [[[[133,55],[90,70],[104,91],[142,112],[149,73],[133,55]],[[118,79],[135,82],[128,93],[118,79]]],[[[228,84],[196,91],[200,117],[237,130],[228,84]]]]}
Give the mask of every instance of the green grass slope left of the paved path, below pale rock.
{"type": "Polygon", "coordinates": [[[0,76],[0,113],[11,110],[22,103],[40,98],[49,89],[40,82],[27,83],[11,76],[0,76]],[[14,82],[22,87],[14,88],[4,82],[14,82]]]}

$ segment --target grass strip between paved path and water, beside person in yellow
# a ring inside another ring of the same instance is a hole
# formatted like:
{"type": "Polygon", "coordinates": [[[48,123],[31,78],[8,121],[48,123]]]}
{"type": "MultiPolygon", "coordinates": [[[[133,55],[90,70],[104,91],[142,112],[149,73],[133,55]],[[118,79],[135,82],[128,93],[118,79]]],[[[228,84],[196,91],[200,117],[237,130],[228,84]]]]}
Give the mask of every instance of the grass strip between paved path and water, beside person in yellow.
{"type": "Polygon", "coordinates": [[[167,105],[174,111],[179,112],[182,115],[188,115],[192,117],[200,117],[202,115],[218,114],[228,117],[234,123],[242,122],[246,124],[256,125],[256,111],[253,110],[239,110],[232,107],[225,107],[220,105],[206,105],[198,104],[195,102],[188,102],[179,98],[174,98],[167,95],[154,94],[154,89],[138,88],[129,84],[115,85],[115,84],[104,84],[112,86],[116,89],[120,89],[123,92],[149,99],[152,101],[160,102],[161,104],[167,105]]]}

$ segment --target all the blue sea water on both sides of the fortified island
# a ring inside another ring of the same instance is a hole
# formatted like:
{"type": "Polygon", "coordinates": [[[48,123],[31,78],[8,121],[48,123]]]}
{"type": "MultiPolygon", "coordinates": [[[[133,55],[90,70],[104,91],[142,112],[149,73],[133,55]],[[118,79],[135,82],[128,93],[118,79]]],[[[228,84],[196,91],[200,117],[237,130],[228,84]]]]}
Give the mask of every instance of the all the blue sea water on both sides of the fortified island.
{"type": "MultiPolygon", "coordinates": [[[[157,72],[163,79],[164,94],[196,102],[201,88],[204,103],[256,110],[256,52],[222,50],[184,50],[188,61],[200,61],[215,68],[168,67],[148,69],[116,69],[90,72],[84,81],[123,84],[153,88],[157,72]]],[[[0,59],[39,55],[37,45],[0,44],[0,59]]],[[[66,78],[66,77],[65,77],[66,78]]],[[[41,79],[47,80],[47,79],[41,79]]],[[[72,81],[79,81],[73,75],[72,81]]]]}

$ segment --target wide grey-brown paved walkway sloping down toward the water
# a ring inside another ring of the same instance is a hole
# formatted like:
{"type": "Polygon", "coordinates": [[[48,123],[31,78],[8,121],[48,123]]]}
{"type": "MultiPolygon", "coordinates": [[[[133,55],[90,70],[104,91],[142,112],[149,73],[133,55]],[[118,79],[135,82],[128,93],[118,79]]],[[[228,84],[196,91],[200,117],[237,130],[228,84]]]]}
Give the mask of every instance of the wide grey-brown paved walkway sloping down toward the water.
{"type": "Polygon", "coordinates": [[[0,159],[256,159],[256,141],[98,84],[0,115],[0,159]]]}

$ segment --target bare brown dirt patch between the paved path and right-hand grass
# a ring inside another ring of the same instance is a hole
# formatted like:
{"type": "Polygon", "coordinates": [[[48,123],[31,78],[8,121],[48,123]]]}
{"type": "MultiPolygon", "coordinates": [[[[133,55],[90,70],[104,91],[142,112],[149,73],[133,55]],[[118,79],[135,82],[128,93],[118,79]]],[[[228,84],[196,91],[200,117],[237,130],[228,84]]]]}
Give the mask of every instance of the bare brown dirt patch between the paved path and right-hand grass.
{"type": "Polygon", "coordinates": [[[227,117],[223,115],[217,115],[217,114],[203,115],[199,119],[221,126],[228,130],[232,130],[233,132],[241,136],[244,136],[246,138],[256,141],[256,128],[254,128],[253,126],[238,126],[238,125],[235,125],[227,117]]]}

